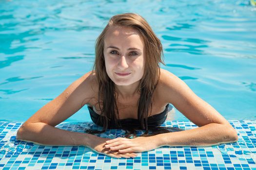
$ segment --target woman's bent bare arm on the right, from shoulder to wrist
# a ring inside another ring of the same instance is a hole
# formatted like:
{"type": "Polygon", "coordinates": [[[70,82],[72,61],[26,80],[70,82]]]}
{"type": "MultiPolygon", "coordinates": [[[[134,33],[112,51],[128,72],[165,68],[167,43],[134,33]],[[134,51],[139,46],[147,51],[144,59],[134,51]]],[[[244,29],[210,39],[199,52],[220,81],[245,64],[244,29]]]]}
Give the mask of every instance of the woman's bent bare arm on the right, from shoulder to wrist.
{"type": "Polygon", "coordinates": [[[172,103],[198,128],[159,134],[159,145],[210,146],[237,141],[236,130],[210,104],[199,98],[182,80],[161,69],[160,87],[163,100],[172,103]]]}

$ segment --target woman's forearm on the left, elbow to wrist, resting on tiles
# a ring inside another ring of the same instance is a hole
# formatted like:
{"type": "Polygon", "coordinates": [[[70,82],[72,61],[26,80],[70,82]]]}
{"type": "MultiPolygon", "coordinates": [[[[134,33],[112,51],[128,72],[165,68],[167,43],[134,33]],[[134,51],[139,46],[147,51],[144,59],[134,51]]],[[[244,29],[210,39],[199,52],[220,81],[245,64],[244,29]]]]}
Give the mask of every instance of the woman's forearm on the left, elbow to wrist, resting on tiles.
{"type": "Polygon", "coordinates": [[[23,124],[16,138],[42,145],[55,146],[88,146],[94,135],[62,130],[46,123],[36,122],[23,124]]]}

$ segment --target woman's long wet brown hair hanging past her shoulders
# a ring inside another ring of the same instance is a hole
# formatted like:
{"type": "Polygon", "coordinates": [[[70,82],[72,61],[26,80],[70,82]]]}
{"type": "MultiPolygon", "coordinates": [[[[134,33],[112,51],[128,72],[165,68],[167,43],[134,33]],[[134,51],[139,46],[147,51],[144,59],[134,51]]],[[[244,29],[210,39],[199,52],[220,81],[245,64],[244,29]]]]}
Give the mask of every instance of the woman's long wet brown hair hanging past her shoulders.
{"type": "MultiPolygon", "coordinates": [[[[138,85],[138,92],[140,98],[138,100],[138,121],[142,130],[148,131],[148,112],[152,111],[152,96],[158,84],[160,76],[159,64],[164,64],[162,44],[156,34],[147,23],[147,21],[134,13],[118,14],[109,19],[108,24],[98,36],[95,44],[95,63],[93,69],[95,70],[98,81],[98,105],[101,112],[100,122],[103,124],[103,131],[109,128],[110,120],[118,124],[116,112],[119,119],[117,106],[117,93],[114,82],[109,78],[106,72],[104,60],[104,38],[112,26],[132,27],[140,33],[144,40],[144,56],[145,56],[145,70],[138,85]],[[102,118],[104,118],[102,120],[102,118]]],[[[120,124],[118,124],[119,127],[120,124]]],[[[102,132],[103,132],[102,131],[102,132]]]]}

